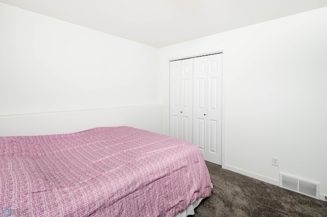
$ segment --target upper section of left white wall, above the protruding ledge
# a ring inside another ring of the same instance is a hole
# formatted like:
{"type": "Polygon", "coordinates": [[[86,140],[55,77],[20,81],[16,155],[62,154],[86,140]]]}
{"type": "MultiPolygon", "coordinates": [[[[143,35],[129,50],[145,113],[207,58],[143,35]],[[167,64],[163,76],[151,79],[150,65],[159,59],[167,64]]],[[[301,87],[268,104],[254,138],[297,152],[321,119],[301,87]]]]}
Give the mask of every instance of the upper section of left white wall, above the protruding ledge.
{"type": "Polygon", "coordinates": [[[0,116],[157,104],[157,52],[0,3],[0,116]]]}

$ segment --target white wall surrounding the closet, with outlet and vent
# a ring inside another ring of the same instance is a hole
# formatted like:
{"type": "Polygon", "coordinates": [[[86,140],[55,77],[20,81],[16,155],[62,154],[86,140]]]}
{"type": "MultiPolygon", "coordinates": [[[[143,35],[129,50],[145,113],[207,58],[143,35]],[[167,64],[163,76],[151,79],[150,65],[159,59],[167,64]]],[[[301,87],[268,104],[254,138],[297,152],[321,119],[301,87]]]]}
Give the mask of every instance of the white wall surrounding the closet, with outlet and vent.
{"type": "Polygon", "coordinates": [[[168,60],[224,49],[223,167],[273,184],[285,172],[327,195],[326,20],[322,8],[159,49],[166,133],[168,60]]]}

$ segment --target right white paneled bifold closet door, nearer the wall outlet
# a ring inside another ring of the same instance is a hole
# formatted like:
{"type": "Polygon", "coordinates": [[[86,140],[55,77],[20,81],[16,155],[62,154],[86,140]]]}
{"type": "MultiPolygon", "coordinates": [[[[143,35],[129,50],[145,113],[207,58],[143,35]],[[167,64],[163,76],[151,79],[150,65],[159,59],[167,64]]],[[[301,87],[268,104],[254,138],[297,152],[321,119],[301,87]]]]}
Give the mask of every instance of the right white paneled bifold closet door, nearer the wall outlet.
{"type": "Polygon", "coordinates": [[[193,61],[193,143],[205,160],[221,165],[222,53],[193,61]]]}

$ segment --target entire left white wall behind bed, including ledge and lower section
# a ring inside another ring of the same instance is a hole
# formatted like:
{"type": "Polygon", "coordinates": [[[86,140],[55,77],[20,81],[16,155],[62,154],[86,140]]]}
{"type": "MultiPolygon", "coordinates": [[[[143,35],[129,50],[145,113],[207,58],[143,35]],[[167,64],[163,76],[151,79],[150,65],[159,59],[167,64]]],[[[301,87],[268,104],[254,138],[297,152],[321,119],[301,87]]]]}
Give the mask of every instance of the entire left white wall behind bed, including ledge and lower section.
{"type": "Polygon", "coordinates": [[[157,53],[0,3],[0,135],[119,125],[162,133],[157,53]]]}

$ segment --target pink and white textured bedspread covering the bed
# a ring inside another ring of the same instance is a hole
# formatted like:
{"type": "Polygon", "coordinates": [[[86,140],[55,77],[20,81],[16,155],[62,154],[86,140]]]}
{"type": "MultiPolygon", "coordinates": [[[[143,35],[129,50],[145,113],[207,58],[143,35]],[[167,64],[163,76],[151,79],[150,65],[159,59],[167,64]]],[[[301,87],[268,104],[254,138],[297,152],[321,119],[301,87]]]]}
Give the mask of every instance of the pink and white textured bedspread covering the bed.
{"type": "Polygon", "coordinates": [[[211,195],[198,148],[132,127],[0,137],[4,216],[174,216],[211,195]]]}

